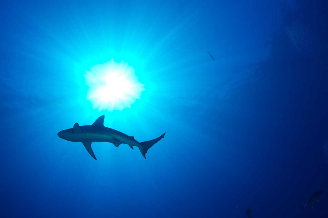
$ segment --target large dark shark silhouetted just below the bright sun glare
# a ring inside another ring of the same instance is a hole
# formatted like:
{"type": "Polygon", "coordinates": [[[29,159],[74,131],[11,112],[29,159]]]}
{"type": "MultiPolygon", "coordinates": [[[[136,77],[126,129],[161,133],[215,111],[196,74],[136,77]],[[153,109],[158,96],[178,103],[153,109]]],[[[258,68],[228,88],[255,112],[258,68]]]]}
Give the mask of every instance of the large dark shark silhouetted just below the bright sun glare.
{"type": "Polygon", "coordinates": [[[118,147],[120,144],[127,144],[131,149],[138,147],[142,156],[146,159],[148,149],[165,136],[164,133],[155,139],[138,142],[133,136],[128,136],[117,130],[105,127],[104,120],[105,115],[102,115],[92,125],[80,126],[78,123],[75,123],[73,128],[62,130],[57,133],[57,136],[67,141],[82,142],[85,149],[95,160],[97,158],[92,151],[92,142],[110,142],[115,147],[118,147]]]}

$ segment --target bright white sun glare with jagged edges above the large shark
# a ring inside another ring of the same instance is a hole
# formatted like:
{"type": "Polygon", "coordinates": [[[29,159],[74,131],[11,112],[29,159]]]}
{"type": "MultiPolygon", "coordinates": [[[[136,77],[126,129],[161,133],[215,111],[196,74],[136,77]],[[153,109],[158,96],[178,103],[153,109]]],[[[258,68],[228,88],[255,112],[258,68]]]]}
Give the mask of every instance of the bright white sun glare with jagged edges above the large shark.
{"type": "Polygon", "coordinates": [[[131,107],[145,90],[144,84],[135,76],[133,67],[128,63],[116,63],[113,59],[91,67],[84,77],[89,86],[87,99],[99,111],[131,107]]]}

